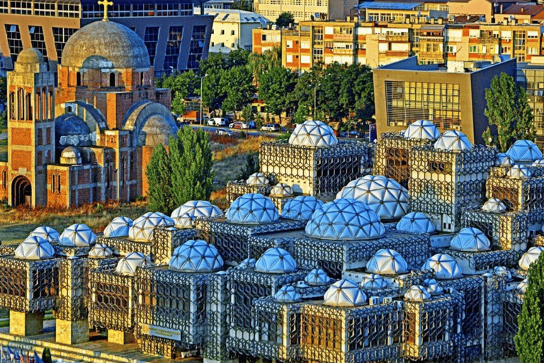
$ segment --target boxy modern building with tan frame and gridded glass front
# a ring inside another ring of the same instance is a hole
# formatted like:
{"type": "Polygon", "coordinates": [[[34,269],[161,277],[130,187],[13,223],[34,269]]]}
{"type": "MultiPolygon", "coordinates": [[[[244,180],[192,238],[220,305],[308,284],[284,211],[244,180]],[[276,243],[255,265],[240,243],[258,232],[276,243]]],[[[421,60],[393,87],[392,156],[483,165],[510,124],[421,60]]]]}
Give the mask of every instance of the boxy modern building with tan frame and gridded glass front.
{"type": "Polygon", "coordinates": [[[441,132],[463,131],[471,143],[482,144],[488,125],[485,89],[503,72],[514,77],[516,60],[480,62],[472,69],[463,65],[419,65],[417,57],[409,57],[374,69],[378,138],[416,120],[429,120],[441,132]]]}

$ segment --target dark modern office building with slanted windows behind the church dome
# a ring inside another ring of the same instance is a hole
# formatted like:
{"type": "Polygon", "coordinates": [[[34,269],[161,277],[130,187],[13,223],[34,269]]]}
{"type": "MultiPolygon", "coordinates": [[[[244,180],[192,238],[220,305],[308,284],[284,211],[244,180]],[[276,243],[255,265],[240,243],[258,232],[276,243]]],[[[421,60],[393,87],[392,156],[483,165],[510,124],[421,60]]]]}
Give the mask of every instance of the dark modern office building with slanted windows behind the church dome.
{"type": "MultiPolygon", "coordinates": [[[[94,0],[0,1],[0,52],[9,57],[0,66],[13,69],[21,50],[36,48],[57,72],[70,35],[102,17],[103,9],[94,0]]],[[[213,19],[195,16],[192,1],[116,1],[108,17],[144,40],[156,74],[194,69],[208,57],[213,19]]]]}

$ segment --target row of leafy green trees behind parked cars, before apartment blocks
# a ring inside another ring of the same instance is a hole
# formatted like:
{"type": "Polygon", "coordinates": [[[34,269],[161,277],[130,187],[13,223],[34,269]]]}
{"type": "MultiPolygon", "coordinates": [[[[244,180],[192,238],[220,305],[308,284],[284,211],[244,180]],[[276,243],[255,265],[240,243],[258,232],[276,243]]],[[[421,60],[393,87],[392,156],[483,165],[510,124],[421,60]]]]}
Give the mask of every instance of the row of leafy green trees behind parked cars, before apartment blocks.
{"type": "Polygon", "coordinates": [[[200,79],[203,104],[212,109],[242,111],[257,92],[268,112],[286,112],[297,122],[311,113],[335,121],[364,121],[374,113],[373,77],[365,65],[319,64],[298,75],[282,67],[278,49],[261,55],[234,50],[211,54],[196,72],[162,77],[157,86],[172,89],[172,109],[183,113],[183,99],[200,95],[200,79]]]}

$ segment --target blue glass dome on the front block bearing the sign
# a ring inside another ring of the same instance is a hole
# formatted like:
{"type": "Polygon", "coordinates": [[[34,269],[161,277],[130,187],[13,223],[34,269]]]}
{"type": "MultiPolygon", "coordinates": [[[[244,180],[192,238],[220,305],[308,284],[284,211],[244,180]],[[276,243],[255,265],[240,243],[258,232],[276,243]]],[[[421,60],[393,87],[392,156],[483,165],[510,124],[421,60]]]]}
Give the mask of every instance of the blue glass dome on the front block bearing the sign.
{"type": "Polygon", "coordinates": [[[188,240],[176,247],[169,262],[169,269],[180,272],[215,272],[222,267],[217,248],[203,240],[188,240]]]}

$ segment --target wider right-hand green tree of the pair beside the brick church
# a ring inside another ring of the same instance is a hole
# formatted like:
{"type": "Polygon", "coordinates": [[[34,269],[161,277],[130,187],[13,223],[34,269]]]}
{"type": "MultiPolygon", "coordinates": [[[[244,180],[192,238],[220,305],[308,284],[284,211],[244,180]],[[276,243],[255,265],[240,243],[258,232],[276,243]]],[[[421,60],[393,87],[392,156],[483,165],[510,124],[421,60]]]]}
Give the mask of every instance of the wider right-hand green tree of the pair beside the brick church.
{"type": "Polygon", "coordinates": [[[169,145],[174,208],[187,201],[210,199],[215,172],[208,134],[185,126],[178,130],[177,138],[170,137],[169,145]]]}

